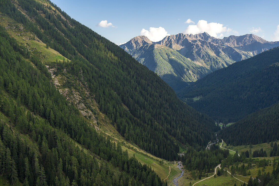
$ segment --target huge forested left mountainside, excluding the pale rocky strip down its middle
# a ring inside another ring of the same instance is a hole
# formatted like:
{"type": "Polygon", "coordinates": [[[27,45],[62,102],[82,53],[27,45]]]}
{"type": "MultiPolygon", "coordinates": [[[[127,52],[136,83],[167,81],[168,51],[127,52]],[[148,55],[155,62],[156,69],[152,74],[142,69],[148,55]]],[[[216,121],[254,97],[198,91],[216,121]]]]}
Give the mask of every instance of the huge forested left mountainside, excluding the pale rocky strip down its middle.
{"type": "Polygon", "coordinates": [[[123,138],[157,157],[177,159],[179,146],[199,149],[214,137],[213,120],[50,1],[3,0],[0,13],[7,25],[0,30],[1,170],[13,184],[163,184],[150,167],[96,132],[79,106],[56,89],[46,63],[75,78],[65,80],[68,87],[85,85],[123,138]],[[19,34],[9,29],[12,22],[20,25],[19,34]],[[44,51],[50,49],[57,55],[47,61],[44,51]]]}

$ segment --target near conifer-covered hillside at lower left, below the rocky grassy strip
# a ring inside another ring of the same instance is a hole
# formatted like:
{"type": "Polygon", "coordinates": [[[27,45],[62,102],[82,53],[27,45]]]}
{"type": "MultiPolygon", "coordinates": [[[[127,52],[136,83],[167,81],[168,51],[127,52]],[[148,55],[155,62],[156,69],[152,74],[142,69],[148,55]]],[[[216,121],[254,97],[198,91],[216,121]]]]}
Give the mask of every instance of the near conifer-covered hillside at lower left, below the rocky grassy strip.
{"type": "Polygon", "coordinates": [[[31,58],[36,68],[25,61],[29,53],[3,27],[0,46],[0,170],[12,185],[162,185],[151,168],[90,127],[49,83],[41,61],[31,58]]]}

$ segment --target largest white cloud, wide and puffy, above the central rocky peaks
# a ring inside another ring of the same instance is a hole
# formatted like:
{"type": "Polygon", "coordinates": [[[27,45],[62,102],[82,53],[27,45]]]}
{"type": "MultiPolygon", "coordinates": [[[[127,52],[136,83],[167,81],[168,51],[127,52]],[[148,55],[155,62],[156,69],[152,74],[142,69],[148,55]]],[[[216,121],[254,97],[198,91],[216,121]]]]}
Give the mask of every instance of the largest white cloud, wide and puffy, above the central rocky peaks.
{"type": "Polygon", "coordinates": [[[189,25],[186,30],[184,30],[183,34],[199,34],[203,32],[217,38],[222,38],[224,36],[223,33],[229,34],[234,32],[235,34],[238,34],[238,32],[232,30],[231,28],[224,27],[223,24],[207,23],[205,20],[199,20],[197,25],[189,25]]]}

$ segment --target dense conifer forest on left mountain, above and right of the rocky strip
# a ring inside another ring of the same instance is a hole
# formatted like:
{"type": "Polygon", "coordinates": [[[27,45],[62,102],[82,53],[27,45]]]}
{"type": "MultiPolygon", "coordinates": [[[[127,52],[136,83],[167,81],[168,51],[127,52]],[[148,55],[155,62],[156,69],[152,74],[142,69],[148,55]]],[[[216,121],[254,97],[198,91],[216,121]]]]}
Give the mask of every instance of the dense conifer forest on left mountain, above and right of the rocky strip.
{"type": "Polygon", "coordinates": [[[177,157],[178,143],[200,147],[211,139],[217,130],[213,120],[179,101],[163,80],[123,49],[76,22],[51,2],[48,3],[55,9],[33,0],[18,3],[36,24],[9,0],[1,2],[0,11],[71,59],[65,66],[89,85],[100,110],[125,139],[169,160],[177,157]]]}

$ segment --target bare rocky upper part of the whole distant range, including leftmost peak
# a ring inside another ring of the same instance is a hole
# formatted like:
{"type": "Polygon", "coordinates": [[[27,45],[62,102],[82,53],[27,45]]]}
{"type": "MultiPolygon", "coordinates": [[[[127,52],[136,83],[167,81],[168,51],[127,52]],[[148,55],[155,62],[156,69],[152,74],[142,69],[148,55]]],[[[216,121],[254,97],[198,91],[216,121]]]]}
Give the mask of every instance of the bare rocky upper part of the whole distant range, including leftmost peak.
{"type": "Polygon", "coordinates": [[[169,47],[186,58],[206,64],[204,66],[211,70],[216,70],[235,61],[241,61],[277,47],[279,46],[279,41],[269,42],[254,34],[230,35],[229,37],[219,39],[211,37],[208,33],[204,32],[195,35],[183,33],[169,35],[158,42],[152,42],[145,36],[138,36],[120,47],[129,52],[138,50],[147,44],[160,44],[169,47]],[[214,63],[213,59],[218,59],[221,62],[218,63],[219,65],[212,64],[214,63]]]}

